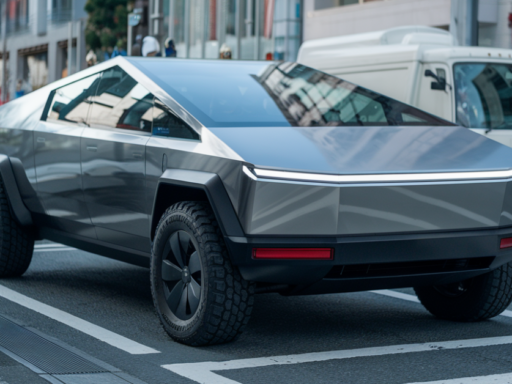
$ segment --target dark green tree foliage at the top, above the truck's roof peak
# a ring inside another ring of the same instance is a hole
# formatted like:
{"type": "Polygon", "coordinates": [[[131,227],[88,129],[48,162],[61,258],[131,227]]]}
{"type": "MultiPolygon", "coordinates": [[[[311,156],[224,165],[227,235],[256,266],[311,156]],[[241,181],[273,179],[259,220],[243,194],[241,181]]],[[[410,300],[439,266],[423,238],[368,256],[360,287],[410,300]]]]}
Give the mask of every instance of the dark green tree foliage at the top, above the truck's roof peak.
{"type": "Polygon", "coordinates": [[[85,40],[88,49],[108,50],[126,45],[128,5],[131,0],[87,0],[89,14],[85,40]]]}

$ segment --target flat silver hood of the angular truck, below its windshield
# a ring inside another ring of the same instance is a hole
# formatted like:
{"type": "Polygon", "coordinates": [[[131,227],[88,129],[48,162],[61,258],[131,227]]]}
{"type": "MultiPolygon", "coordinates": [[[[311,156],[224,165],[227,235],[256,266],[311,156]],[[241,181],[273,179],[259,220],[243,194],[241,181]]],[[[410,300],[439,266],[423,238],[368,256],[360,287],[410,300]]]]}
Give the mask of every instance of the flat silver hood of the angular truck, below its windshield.
{"type": "Polygon", "coordinates": [[[457,126],[209,129],[265,168],[332,174],[512,168],[512,148],[457,126]]]}

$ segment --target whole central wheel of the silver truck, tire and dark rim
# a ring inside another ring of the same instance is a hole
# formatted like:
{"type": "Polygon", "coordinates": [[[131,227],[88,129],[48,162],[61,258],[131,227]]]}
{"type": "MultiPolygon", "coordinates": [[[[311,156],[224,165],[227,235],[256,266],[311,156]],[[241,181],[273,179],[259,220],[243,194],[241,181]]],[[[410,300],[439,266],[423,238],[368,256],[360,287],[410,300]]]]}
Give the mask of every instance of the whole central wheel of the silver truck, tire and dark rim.
{"type": "Polygon", "coordinates": [[[249,322],[254,284],[234,268],[208,204],[177,203],[158,223],[151,293],[165,331],[191,346],[231,341],[249,322]]]}

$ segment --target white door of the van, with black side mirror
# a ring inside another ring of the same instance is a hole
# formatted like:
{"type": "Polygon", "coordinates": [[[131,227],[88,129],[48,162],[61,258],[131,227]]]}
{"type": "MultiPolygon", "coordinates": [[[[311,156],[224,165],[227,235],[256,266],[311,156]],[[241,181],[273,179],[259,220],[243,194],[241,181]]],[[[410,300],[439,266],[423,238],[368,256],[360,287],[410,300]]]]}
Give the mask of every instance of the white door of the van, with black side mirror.
{"type": "Polygon", "coordinates": [[[445,90],[435,89],[436,80],[433,77],[425,76],[426,70],[431,70],[438,77],[444,78],[447,84],[453,84],[448,65],[443,63],[425,63],[419,74],[418,96],[414,106],[429,112],[433,115],[442,117],[448,121],[454,121],[452,92],[447,85],[445,90]]]}

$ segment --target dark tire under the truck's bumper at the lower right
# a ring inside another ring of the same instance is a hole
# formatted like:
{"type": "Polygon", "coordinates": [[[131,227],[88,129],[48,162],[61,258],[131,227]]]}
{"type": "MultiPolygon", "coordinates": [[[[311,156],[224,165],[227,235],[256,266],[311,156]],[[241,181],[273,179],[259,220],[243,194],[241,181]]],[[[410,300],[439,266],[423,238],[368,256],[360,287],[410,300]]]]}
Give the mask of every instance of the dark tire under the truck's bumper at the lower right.
{"type": "Polygon", "coordinates": [[[505,264],[464,282],[459,296],[443,293],[442,286],[417,287],[421,304],[434,316],[446,320],[475,322],[502,313],[512,302],[512,264],[505,264]]]}

